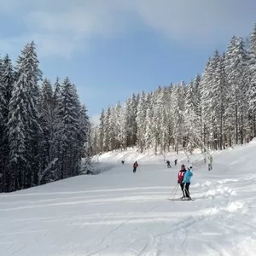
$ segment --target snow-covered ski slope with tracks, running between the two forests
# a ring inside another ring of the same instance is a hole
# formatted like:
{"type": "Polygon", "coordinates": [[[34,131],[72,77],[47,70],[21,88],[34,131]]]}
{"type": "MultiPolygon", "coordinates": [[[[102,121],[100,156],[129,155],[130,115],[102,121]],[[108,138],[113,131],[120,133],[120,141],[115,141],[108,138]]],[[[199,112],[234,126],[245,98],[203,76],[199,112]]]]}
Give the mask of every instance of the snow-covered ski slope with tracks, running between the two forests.
{"type": "Polygon", "coordinates": [[[0,255],[255,256],[256,141],[212,155],[211,172],[191,156],[195,201],[167,200],[184,154],[167,169],[132,150],[99,156],[100,175],[2,194],[0,255]]]}

